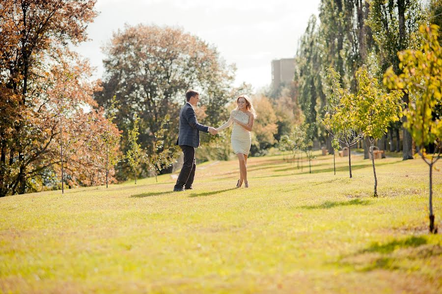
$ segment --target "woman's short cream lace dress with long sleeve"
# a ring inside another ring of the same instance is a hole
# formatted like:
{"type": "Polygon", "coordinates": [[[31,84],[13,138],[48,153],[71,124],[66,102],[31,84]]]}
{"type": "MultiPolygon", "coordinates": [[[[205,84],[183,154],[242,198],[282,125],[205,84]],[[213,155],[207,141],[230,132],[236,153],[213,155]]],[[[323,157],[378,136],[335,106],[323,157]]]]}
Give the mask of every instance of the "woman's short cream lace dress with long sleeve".
{"type": "MultiPolygon", "coordinates": [[[[230,112],[229,120],[217,129],[218,132],[230,127],[233,123],[234,118],[236,118],[245,125],[249,124],[249,115],[247,115],[241,110],[232,110],[232,112],[230,112]]],[[[232,136],[230,137],[230,139],[235,154],[244,153],[245,155],[249,155],[250,146],[251,146],[251,137],[249,131],[244,129],[239,124],[233,123],[232,136]]]]}

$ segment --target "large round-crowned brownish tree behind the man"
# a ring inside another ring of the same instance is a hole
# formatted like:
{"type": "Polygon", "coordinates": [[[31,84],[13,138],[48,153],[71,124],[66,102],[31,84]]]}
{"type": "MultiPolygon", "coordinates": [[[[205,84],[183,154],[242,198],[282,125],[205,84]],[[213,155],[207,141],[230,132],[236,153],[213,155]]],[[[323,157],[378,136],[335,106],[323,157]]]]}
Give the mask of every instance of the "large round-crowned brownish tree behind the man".
{"type": "MultiPolygon", "coordinates": [[[[113,34],[104,52],[104,90],[96,98],[105,107],[113,93],[124,99],[115,119],[124,134],[138,114],[139,143],[146,153],[152,153],[154,134],[167,114],[169,128],[178,129],[179,109],[189,88],[201,92],[200,105],[206,106],[208,114],[205,124],[226,119],[225,105],[235,69],[225,64],[216,48],[198,37],[172,27],[126,26],[113,34]]],[[[167,132],[163,148],[172,154],[178,152],[174,151],[175,142],[176,133],[167,132]]],[[[129,148],[127,137],[122,145],[124,150],[129,148]]],[[[129,170],[120,169],[125,179],[129,170]]]]}

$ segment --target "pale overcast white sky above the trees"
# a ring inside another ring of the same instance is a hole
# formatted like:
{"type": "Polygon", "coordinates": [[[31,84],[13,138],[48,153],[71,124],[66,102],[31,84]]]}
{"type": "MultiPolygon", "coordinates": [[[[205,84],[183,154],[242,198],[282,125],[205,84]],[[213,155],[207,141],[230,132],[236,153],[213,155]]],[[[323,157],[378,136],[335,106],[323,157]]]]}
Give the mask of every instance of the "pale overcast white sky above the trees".
{"type": "Polygon", "coordinates": [[[255,90],[271,83],[272,59],[290,58],[320,0],[98,0],[99,15],[88,27],[91,39],[76,50],[101,78],[100,47],[124,24],[182,27],[214,44],[227,63],[237,66],[235,85],[255,90]]]}

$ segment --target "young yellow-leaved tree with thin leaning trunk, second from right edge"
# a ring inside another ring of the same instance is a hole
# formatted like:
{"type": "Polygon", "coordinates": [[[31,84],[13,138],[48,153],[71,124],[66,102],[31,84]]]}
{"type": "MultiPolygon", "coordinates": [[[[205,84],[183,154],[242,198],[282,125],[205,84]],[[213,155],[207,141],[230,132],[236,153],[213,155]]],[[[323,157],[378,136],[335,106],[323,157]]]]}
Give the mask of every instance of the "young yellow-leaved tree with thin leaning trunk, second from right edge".
{"type": "Polygon", "coordinates": [[[371,154],[374,176],[374,197],[378,196],[378,179],[373,156],[375,140],[381,139],[386,133],[388,126],[399,121],[402,116],[402,91],[390,91],[386,93],[379,85],[376,78],[369,75],[367,68],[362,66],[356,72],[359,90],[355,96],[356,109],[354,116],[359,124],[359,129],[367,141],[368,150],[371,154]]]}

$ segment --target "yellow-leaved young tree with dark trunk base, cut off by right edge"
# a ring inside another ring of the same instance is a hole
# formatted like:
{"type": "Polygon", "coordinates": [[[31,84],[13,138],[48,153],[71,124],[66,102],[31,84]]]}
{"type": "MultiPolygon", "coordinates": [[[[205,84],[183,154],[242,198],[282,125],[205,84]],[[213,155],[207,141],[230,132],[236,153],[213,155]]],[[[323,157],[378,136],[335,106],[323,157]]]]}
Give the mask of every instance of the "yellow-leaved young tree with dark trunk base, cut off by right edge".
{"type": "Polygon", "coordinates": [[[442,47],[439,43],[439,27],[421,26],[422,35],[419,50],[405,50],[398,53],[402,71],[396,75],[393,68],[387,69],[384,83],[390,88],[404,89],[412,97],[405,111],[407,121],[404,127],[412,135],[418,154],[428,164],[429,172],[429,218],[430,232],[436,233],[433,214],[433,168],[441,157],[442,121],[442,47]],[[433,154],[427,153],[429,144],[435,145],[433,154]]]}

